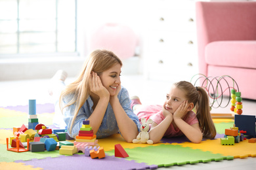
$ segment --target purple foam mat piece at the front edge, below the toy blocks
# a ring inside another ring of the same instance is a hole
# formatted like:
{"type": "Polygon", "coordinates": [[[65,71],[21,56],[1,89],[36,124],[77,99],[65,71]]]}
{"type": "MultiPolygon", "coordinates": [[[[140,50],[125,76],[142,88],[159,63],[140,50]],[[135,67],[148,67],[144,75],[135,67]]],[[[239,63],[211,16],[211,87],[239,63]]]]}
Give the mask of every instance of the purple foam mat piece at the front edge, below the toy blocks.
{"type": "Polygon", "coordinates": [[[16,163],[25,163],[34,167],[43,169],[157,169],[158,165],[146,165],[146,163],[137,163],[134,160],[125,160],[125,158],[116,158],[108,156],[105,158],[92,159],[84,154],[74,154],[73,156],[59,156],[56,158],[47,157],[45,159],[32,159],[29,161],[17,160],[16,163]]]}

